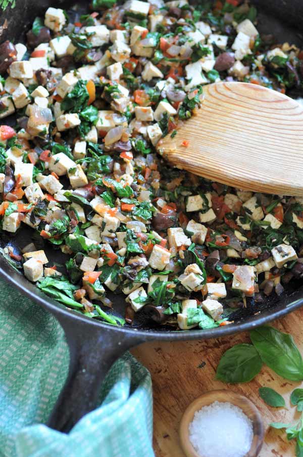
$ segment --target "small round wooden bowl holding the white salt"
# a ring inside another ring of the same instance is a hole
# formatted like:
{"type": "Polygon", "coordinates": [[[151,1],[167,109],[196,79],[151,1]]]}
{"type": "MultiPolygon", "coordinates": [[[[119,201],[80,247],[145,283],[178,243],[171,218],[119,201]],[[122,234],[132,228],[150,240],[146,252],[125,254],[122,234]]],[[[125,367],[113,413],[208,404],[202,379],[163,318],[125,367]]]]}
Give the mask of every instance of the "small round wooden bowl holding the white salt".
{"type": "Polygon", "coordinates": [[[214,401],[229,402],[238,406],[251,420],[254,437],[252,438],[250,450],[246,453],[245,457],[258,457],[264,440],[264,426],[261,414],[254,403],[248,400],[248,398],[237,394],[236,392],[224,389],[212,390],[211,392],[201,395],[185,409],[180,422],[179,435],[186,457],[204,457],[203,455],[197,454],[194,447],[191,445],[189,440],[189,424],[192,422],[196,411],[200,410],[203,406],[214,403],[214,401]]]}

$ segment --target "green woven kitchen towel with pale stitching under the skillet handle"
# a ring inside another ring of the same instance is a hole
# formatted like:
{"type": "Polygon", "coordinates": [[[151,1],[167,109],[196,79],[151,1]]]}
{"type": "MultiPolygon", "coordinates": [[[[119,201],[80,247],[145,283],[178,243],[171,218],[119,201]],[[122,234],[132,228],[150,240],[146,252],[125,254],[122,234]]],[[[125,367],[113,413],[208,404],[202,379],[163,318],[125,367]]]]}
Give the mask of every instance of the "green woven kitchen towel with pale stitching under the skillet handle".
{"type": "Polygon", "coordinates": [[[129,353],[69,434],[43,425],[67,377],[63,330],[4,281],[0,297],[0,456],[153,457],[150,375],[129,353]]]}

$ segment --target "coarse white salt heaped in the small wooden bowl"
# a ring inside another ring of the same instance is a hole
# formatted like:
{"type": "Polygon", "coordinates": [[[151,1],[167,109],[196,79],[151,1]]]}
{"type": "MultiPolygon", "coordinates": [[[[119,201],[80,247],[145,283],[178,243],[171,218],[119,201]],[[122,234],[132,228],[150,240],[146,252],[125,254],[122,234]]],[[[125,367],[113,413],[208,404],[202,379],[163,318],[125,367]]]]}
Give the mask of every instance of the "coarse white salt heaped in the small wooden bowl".
{"type": "Polygon", "coordinates": [[[252,437],[251,421],[229,402],[204,406],[189,424],[190,442],[201,457],[244,457],[252,437]]]}

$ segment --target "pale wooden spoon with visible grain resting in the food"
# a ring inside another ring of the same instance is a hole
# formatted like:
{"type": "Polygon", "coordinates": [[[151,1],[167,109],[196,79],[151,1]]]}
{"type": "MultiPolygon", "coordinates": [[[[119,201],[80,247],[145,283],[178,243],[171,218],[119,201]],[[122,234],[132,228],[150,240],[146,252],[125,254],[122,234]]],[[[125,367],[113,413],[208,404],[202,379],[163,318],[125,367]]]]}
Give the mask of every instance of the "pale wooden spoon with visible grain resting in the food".
{"type": "Polygon", "coordinates": [[[303,195],[303,106],[245,82],[217,82],[203,94],[197,114],[173,139],[160,140],[158,152],[179,169],[233,187],[303,195]]]}

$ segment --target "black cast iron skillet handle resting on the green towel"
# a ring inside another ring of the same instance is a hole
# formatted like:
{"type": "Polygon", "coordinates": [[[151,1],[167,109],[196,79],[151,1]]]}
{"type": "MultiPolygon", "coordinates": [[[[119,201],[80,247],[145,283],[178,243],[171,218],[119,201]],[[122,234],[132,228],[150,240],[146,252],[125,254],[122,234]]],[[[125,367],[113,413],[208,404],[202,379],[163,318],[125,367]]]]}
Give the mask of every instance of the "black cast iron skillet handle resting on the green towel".
{"type": "MultiPolygon", "coordinates": [[[[57,316],[58,318],[59,316],[57,316]]],[[[48,426],[61,432],[72,427],[98,401],[100,387],[112,364],[127,350],[142,343],[142,338],[73,319],[60,321],[70,350],[70,369],[48,426]]]]}

